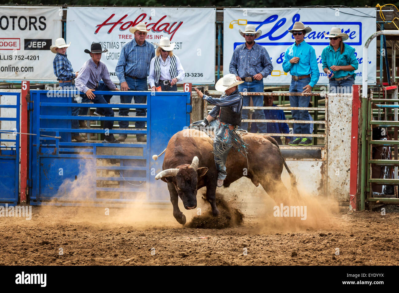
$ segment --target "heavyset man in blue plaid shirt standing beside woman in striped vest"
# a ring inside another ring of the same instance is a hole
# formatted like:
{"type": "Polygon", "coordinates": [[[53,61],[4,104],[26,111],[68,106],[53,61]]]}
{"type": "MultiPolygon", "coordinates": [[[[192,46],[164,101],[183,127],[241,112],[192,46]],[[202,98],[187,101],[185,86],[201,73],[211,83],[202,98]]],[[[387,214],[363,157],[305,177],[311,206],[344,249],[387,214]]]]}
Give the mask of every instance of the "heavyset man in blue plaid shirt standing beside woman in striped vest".
{"type": "MultiPolygon", "coordinates": [[[[154,45],[146,41],[146,24],[140,22],[131,27],[134,39],[126,43],[120,52],[115,72],[120,82],[120,90],[148,90],[147,77],[150,74],[150,61],[155,57],[154,45]]],[[[131,103],[133,96],[120,96],[121,103],[131,103]]],[[[145,104],[147,96],[134,96],[136,104],[145,104]]],[[[119,109],[119,116],[128,116],[129,109],[119,109]]],[[[136,116],[146,116],[146,109],[136,109],[136,116]]],[[[144,129],[144,121],[136,121],[135,129],[144,129]]],[[[128,121],[119,121],[119,128],[129,128],[128,121]]],[[[127,134],[120,134],[118,140],[124,142],[127,134]]],[[[146,142],[143,134],[136,134],[138,142],[146,142]]]]}

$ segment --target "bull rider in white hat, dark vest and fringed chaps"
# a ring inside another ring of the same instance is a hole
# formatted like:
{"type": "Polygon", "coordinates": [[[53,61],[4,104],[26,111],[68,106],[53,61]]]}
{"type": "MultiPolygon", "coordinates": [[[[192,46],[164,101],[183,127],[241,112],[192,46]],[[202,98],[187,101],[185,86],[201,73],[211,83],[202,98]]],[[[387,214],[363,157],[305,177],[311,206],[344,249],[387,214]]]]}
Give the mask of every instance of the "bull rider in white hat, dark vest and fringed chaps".
{"type": "Polygon", "coordinates": [[[233,74],[227,74],[219,79],[215,85],[216,90],[224,93],[220,98],[212,98],[203,94],[198,88],[195,88],[197,94],[208,103],[216,105],[209,112],[207,118],[201,122],[203,126],[209,125],[217,114],[219,114],[219,128],[215,132],[213,142],[213,153],[217,167],[217,187],[223,186],[223,181],[227,176],[226,160],[231,147],[233,146],[233,130],[241,125],[243,111],[243,96],[241,96],[238,85],[243,81],[238,81],[233,74]]]}

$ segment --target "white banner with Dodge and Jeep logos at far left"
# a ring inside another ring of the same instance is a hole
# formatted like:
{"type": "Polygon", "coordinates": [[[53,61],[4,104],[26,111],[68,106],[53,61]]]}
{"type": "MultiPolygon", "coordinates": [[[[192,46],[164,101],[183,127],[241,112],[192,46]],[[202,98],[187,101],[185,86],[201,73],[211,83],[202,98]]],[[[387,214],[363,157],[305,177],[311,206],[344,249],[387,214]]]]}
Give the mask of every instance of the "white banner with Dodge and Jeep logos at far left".
{"type": "Polygon", "coordinates": [[[61,37],[61,18],[61,7],[0,8],[0,80],[56,80],[50,46],[61,37]]]}

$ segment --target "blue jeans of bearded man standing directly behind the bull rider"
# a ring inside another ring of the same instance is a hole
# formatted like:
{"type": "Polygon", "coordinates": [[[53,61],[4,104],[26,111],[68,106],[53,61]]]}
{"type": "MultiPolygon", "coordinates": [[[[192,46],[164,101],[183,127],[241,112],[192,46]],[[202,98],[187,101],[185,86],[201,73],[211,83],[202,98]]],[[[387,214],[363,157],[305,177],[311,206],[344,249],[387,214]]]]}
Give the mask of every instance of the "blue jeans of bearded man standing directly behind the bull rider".
{"type": "MultiPolygon", "coordinates": [[[[260,81],[252,81],[251,83],[241,83],[238,85],[239,92],[263,92],[263,79],[260,81]]],[[[243,106],[249,106],[251,96],[243,96],[243,106]]],[[[263,106],[263,96],[252,96],[253,105],[256,107],[263,106]]],[[[243,109],[243,119],[248,119],[248,109],[243,109]]],[[[265,119],[265,112],[263,110],[255,110],[255,118],[252,119],[265,119]]],[[[267,133],[267,127],[265,122],[256,123],[261,133],[267,133]]],[[[248,122],[241,123],[241,127],[244,130],[248,130],[248,122]]]]}

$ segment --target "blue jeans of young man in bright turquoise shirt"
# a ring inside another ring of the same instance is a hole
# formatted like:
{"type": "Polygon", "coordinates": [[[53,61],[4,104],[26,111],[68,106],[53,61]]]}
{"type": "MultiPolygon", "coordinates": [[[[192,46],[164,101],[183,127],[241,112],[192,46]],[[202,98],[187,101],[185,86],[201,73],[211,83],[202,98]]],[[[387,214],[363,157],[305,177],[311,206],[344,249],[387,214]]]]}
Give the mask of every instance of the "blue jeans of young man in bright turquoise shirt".
{"type": "MultiPolygon", "coordinates": [[[[294,81],[291,79],[290,92],[303,92],[304,86],[310,83],[310,77],[294,81]]],[[[308,107],[310,96],[290,96],[291,107],[308,107]]],[[[309,120],[308,110],[291,110],[292,118],[294,120],[309,120]]],[[[310,134],[310,124],[308,123],[294,123],[295,134],[310,134]]],[[[298,136],[300,137],[300,136],[298,136]]],[[[311,139],[311,138],[309,138],[311,139]]]]}

